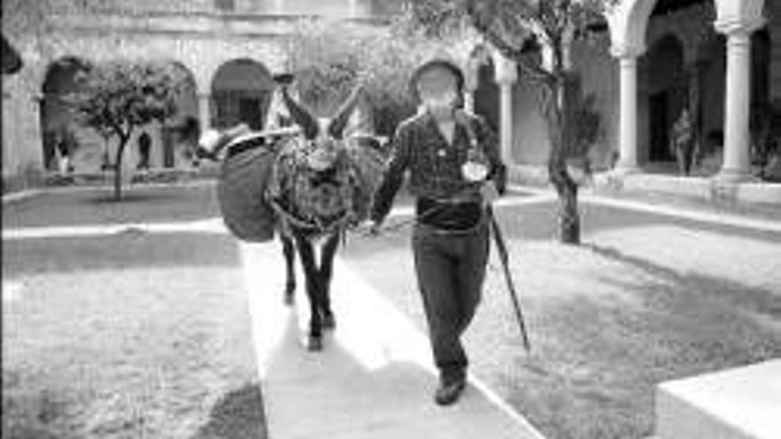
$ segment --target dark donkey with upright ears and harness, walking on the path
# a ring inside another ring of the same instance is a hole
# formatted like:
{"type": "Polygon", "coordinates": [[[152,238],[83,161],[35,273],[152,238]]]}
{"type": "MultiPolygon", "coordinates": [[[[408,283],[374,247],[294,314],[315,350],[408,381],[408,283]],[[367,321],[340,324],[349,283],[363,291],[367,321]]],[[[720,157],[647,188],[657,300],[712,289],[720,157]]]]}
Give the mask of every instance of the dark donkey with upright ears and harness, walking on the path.
{"type": "MultiPolygon", "coordinates": [[[[333,118],[316,119],[290,97],[287,87],[282,88],[283,101],[296,129],[283,129],[271,142],[273,165],[267,187],[261,194],[272,207],[282,241],[287,304],[294,302],[296,253],[304,268],[311,310],[307,349],[311,351],[323,349],[324,330],[334,329],[336,325],[330,284],[340,238],[366,216],[371,203],[373,187],[367,184],[367,177],[370,179],[376,169],[361,169],[357,153],[364,154],[364,159],[368,157],[369,161],[372,158],[382,161],[377,141],[364,137],[361,142],[343,137],[360,90],[351,93],[333,118]],[[316,247],[319,247],[319,258],[315,255],[316,247]]],[[[234,129],[228,130],[227,135],[224,133],[226,149],[248,144],[246,131],[243,135],[241,132],[234,129]]],[[[269,146],[266,138],[258,145],[269,146]]]]}

